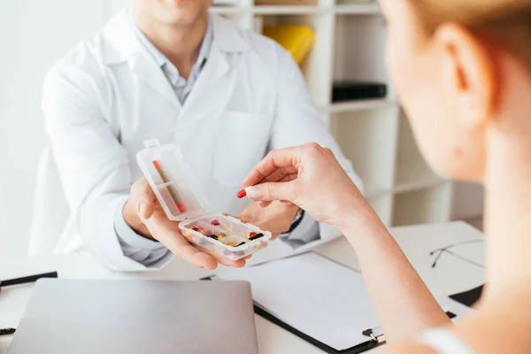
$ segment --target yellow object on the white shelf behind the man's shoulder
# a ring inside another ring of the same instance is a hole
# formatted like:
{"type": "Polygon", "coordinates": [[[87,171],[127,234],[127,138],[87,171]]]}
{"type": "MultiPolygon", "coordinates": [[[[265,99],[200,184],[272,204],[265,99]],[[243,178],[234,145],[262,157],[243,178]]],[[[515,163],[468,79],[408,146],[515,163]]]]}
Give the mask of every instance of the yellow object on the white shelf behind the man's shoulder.
{"type": "Polygon", "coordinates": [[[264,35],[281,44],[300,65],[312,50],[315,33],[312,27],[298,25],[264,26],[264,35]]]}

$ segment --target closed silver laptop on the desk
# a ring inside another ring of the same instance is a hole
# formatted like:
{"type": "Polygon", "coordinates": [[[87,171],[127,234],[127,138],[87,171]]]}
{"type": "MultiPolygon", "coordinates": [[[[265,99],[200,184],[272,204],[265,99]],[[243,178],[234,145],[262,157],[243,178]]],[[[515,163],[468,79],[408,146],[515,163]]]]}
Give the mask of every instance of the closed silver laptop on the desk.
{"type": "Polygon", "coordinates": [[[42,279],[7,352],[258,353],[250,284],[42,279]]]}

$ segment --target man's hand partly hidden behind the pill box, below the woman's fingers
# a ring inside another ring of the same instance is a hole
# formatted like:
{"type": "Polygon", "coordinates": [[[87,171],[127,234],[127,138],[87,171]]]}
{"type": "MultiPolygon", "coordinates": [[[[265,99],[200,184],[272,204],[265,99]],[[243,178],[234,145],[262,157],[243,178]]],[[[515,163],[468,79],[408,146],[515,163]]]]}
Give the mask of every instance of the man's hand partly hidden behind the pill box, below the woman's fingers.
{"type": "Polygon", "coordinates": [[[258,206],[258,203],[253,203],[236,218],[271,232],[273,235],[271,239],[274,240],[282,233],[289,231],[298,210],[298,206],[291,203],[275,202],[265,208],[258,206]]]}

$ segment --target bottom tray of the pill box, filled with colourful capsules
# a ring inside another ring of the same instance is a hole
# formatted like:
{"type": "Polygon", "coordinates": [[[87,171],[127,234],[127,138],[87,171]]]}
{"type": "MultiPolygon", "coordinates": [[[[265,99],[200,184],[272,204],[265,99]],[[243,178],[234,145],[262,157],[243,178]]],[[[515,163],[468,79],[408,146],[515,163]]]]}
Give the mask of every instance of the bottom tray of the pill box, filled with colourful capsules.
{"type": "Polygon", "coordinates": [[[271,239],[270,232],[221,213],[186,219],[179,227],[189,242],[231,260],[245,258],[263,249],[271,239]],[[219,222],[219,225],[212,225],[212,221],[217,221],[214,224],[219,222]]]}

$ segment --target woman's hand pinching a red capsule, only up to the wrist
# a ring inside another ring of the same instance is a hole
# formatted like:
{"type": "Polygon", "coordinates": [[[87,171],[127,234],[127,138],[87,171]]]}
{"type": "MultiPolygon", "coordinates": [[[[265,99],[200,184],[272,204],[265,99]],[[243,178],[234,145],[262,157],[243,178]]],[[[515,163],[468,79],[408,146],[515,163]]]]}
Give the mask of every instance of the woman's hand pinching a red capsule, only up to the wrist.
{"type": "Polygon", "coordinates": [[[243,181],[243,187],[261,205],[289,201],[340,231],[379,222],[334,153],[314,142],[271,151],[243,181]]]}

